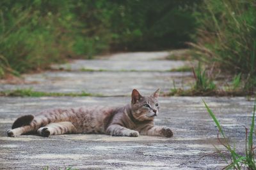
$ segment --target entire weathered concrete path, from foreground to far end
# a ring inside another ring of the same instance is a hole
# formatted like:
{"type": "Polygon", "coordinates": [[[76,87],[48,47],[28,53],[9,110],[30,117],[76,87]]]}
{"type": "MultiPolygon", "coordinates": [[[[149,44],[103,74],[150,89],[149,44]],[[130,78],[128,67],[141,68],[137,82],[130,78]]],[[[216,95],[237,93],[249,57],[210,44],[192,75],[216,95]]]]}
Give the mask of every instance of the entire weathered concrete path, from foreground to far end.
{"type": "MultiPolygon", "coordinates": [[[[140,61],[144,60],[145,64],[153,63],[155,60],[170,62],[164,60],[168,52],[142,54],[124,53],[119,56],[120,59],[122,56],[125,56],[124,59],[129,58],[124,60],[129,63],[136,63],[134,56],[142,56],[139,57],[140,61]]],[[[99,60],[121,62],[118,55],[98,59],[95,63],[99,60]]],[[[93,60],[88,62],[93,63],[93,60]]],[[[127,71],[115,72],[110,71],[111,67],[106,67],[108,71],[83,72],[78,70],[81,66],[76,63],[87,64],[87,61],[72,62],[73,71],[25,75],[27,84],[0,85],[1,90],[33,87],[34,90],[51,92],[86,90],[109,96],[0,97],[0,169],[43,169],[47,166],[49,169],[65,169],[71,166],[77,169],[221,169],[226,164],[220,155],[214,153],[214,146],[222,149],[223,146],[218,143],[216,125],[209,117],[202,99],[209,104],[220,120],[230,142],[235,141],[238,152],[244,152],[243,125],[249,127],[253,106],[253,100],[247,101],[245,97],[160,97],[161,113],[156,118],[156,125],[171,127],[174,132],[173,138],[128,138],[95,134],[60,135],[50,138],[6,137],[6,130],[10,129],[15,118],[20,115],[59,107],[97,104],[122,106],[131,101],[128,95],[133,88],[138,88],[146,95],[157,87],[168,91],[172,86],[172,80],[191,80],[190,73],[183,73],[180,76],[180,73],[160,70],[129,71],[128,64],[125,67],[127,71]],[[33,81],[36,83],[31,83],[33,81]],[[116,95],[125,96],[113,97],[116,95]]],[[[186,64],[181,61],[179,63],[186,64]]],[[[157,68],[156,64],[152,66],[157,68]]]]}

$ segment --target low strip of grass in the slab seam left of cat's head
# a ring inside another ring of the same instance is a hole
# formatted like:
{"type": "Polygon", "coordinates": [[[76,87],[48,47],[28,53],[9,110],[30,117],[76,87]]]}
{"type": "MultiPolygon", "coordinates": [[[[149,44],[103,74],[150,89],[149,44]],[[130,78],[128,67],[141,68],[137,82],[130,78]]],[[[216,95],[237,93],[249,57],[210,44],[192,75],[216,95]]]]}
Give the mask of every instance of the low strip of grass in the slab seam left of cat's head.
{"type": "Polygon", "coordinates": [[[83,96],[101,96],[100,94],[90,94],[87,92],[81,93],[60,93],[60,92],[37,92],[32,89],[17,89],[1,91],[0,96],[13,96],[13,97],[83,97],[83,96]]]}

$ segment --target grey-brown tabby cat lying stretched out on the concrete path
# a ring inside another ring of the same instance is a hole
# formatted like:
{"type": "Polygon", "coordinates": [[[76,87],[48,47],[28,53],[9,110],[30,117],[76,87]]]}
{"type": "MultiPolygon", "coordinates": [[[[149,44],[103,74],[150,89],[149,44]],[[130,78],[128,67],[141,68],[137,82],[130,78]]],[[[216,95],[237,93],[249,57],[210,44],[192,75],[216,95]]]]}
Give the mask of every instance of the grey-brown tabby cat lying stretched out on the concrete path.
{"type": "Polygon", "coordinates": [[[7,136],[38,134],[49,137],[56,134],[109,134],[138,137],[163,136],[170,138],[168,127],[154,125],[159,114],[159,89],[150,96],[141,96],[132,90],[131,103],[124,107],[91,106],[42,111],[38,115],[17,118],[7,136]]]}

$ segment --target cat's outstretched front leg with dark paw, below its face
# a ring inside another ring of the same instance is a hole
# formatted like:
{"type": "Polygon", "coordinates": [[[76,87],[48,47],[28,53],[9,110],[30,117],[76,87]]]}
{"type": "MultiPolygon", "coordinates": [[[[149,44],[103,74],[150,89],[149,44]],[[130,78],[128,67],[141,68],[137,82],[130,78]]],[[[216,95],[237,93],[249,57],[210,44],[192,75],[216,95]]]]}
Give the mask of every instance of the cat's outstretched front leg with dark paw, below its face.
{"type": "Polygon", "coordinates": [[[141,129],[140,134],[147,136],[164,136],[170,138],[173,136],[173,132],[169,127],[160,126],[147,126],[141,129]]]}

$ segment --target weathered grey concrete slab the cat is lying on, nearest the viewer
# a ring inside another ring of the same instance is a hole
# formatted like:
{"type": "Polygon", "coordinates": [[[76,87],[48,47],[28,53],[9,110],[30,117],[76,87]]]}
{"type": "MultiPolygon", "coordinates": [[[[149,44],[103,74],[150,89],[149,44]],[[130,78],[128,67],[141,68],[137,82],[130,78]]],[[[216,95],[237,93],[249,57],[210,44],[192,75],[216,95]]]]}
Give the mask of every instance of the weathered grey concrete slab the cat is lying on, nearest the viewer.
{"type": "MultiPolygon", "coordinates": [[[[250,125],[253,101],[244,97],[204,97],[230,141],[244,151],[244,127],[250,125]]],[[[173,138],[111,137],[95,134],[6,137],[15,118],[44,109],[129,103],[129,97],[0,97],[1,169],[220,169],[225,162],[213,145],[223,148],[201,97],[161,97],[156,125],[166,125],[173,138]],[[208,153],[212,153],[207,155],[208,153]]]]}

